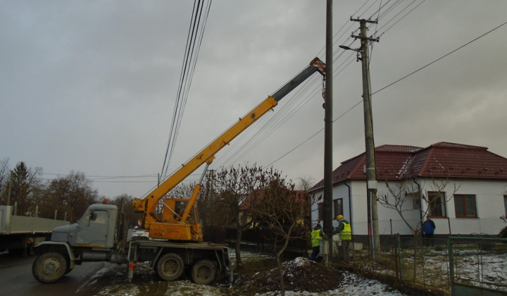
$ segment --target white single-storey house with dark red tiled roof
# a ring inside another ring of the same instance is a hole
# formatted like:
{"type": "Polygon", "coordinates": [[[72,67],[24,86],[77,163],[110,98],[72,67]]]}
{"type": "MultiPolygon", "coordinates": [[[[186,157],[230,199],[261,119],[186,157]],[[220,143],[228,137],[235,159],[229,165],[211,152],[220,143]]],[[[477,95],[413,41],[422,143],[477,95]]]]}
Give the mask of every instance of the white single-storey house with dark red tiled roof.
{"type": "MultiPolygon", "coordinates": [[[[348,159],[332,174],[332,213],[351,221],[353,233],[368,234],[365,153],[348,159]]],[[[375,148],[378,195],[394,200],[389,188],[403,197],[403,216],[417,228],[430,213],[436,235],[496,235],[507,213],[507,159],[487,147],[439,142],[421,148],[382,145],[375,148]],[[389,188],[387,187],[389,186],[389,188]],[[429,202],[425,202],[424,197],[429,202]]],[[[311,220],[323,221],[321,180],[309,193],[311,220]]],[[[394,209],[378,204],[380,235],[411,231],[394,209]]],[[[334,222],[337,226],[337,222],[334,222]]]]}

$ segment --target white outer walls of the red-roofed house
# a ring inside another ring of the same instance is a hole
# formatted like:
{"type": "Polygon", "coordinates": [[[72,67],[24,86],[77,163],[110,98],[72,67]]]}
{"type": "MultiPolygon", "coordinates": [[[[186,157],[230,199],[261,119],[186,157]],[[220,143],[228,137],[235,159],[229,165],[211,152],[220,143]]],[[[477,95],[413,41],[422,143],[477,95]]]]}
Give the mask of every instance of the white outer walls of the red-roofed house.
{"type": "MultiPolygon", "coordinates": [[[[427,196],[427,192],[437,191],[434,187],[432,180],[417,180],[421,185],[422,191],[427,196]]],[[[340,183],[333,187],[333,199],[343,198],[344,217],[351,221],[353,233],[356,235],[368,234],[368,209],[366,199],[366,184],[364,180],[348,180],[347,184],[351,187],[352,195],[352,214],[349,212],[349,188],[340,183]]],[[[399,185],[390,182],[392,187],[399,185]]],[[[506,194],[507,182],[504,181],[491,181],[491,180],[451,180],[443,191],[449,199],[446,202],[446,218],[433,218],[437,226],[435,234],[437,235],[470,235],[470,234],[487,234],[496,235],[500,232],[501,228],[506,224],[499,218],[505,215],[505,207],[503,204],[503,195],[506,194]],[[475,195],[477,204],[477,217],[478,218],[456,218],[456,211],[454,208],[454,200],[449,199],[449,195],[453,194],[454,185],[456,184],[456,194],[475,195]]],[[[379,182],[378,194],[387,194],[389,200],[394,197],[389,193],[385,183],[379,182]]],[[[315,192],[315,196],[323,195],[323,191],[315,192]]],[[[323,202],[321,199],[318,202],[323,202]]],[[[413,228],[420,228],[420,211],[412,209],[413,203],[408,200],[406,204],[406,211],[403,211],[403,216],[408,223],[411,223],[413,228]]],[[[312,205],[312,221],[313,225],[317,222],[318,211],[317,203],[312,205]]],[[[379,217],[379,233],[380,235],[389,235],[392,233],[399,233],[401,235],[411,235],[411,230],[402,221],[398,212],[394,209],[388,209],[381,204],[377,205],[379,217]]],[[[423,209],[425,204],[423,203],[423,209]]],[[[332,211],[333,213],[333,211],[332,211]]],[[[320,221],[322,225],[322,221],[320,221]]],[[[333,226],[337,227],[337,222],[333,219],[333,226]]]]}

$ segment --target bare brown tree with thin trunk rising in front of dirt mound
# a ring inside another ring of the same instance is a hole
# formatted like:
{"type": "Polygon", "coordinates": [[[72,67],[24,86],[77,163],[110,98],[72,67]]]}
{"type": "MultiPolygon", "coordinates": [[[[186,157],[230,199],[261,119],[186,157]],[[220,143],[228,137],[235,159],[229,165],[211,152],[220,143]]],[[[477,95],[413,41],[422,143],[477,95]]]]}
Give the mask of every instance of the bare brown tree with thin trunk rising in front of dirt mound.
{"type": "Polygon", "coordinates": [[[250,211],[256,223],[269,226],[270,230],[282,238],[282,247],[276,254],[280,277],[280,290],[285,295],[283,270],[280,257],[289,245],[289,240],[306,239],[305,220],[310,208],[310,199],[306,192],[295,191],[295,185],[287,182],[280,173],[271,171],[269,184],[254,202],[250,211]]]}

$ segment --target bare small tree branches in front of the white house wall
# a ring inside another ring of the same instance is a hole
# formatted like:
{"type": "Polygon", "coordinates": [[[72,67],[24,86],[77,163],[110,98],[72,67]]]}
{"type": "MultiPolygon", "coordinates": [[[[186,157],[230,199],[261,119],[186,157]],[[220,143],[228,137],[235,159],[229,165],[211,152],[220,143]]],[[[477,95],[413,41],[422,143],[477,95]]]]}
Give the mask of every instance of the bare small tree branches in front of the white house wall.
{"type": "MultiPolygon", "coordinates": [[[[411,230],[413,236],[417,236],[418,233],[422,230],[423,219],[425,216],[430,214],[430,211],[437,206],[437,199],[432,200],[431,197],[424,195],[424,193],[420,190],[420,187],[415,183],[413,179],[402,180],[400,183],[396,183],[394,185],[390,185],[387,180],[385,181],[385,185],[387,187],[387,191],[390,195],[382,194],[379,192],[377,195],[378,202],[382,204],[382,206],[388,209],[394,209],[398,212],[401,220],[408,226],[411,230]],[[390,196],[390,197],[389,197],[390,196]],[[424,209],[422,204],[418,204],[418,210],[420,211],[420,219],[417,225],[413,225],[408,221],[406,216],[406,212],[413,212],[414,209],[412,206],[408,206],[413,203],[413,200],[420,201],[424,203],[424,209]]],[[[458,191],[459,187],[456,187],[456,183],[453,183],[453,192],[451,195],[444,195],[444,190],[447,185],[449,185],[449,180],[432,180],[432,185],[430,185],[431,192],[437,192],[442,196],[443,200],[438,202],[449,202],[454,196],[454,194],[458,191]]]]}

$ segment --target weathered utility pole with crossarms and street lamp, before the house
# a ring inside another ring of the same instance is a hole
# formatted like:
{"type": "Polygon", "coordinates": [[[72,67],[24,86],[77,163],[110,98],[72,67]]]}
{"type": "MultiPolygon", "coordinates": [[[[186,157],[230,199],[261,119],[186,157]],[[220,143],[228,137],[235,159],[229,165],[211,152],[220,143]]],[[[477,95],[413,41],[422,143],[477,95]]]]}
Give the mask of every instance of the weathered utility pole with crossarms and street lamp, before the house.
{"type": "Polygon", "coordinates": [[[361,33],[359,36],[352,35],[354,39],[361,39],[359,49],[340,46],[342,49],[351,49],[358,52],[358,61],[361,60],[363,73],[363,111],[365,123],[365,154],[366,154],[366,192],[368,206],[368,235],[370,236],[370,257],[375,259],[375,253],[380,251],[380,237],[378,226],[377,209],[377,173],[375,171],[375,141],[373,138],[373,116],[371,105],[371,87],[370,87],[370,58],[368,57],[368,42],[378,42],[379,39],[368,38],[366,35],[366,24],[377,23],[376,20],[353,19],[359,22],[361,33]]]}

